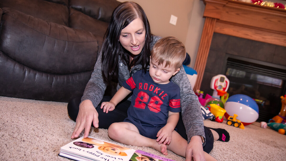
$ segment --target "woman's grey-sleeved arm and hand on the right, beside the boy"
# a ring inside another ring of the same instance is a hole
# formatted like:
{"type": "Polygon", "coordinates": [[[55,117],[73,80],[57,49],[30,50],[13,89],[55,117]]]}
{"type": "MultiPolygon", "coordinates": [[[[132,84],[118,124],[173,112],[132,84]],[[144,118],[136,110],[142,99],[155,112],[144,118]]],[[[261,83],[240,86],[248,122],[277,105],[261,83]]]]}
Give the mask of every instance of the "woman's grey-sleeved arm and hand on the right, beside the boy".
{"type": "Polygon", "coordinates": [[[186,148],[186,161],[205,160],[201,136],[205,140],[204,122],[198,97],[192,90],[190,81],[183,68],[172,78],[173,82],[180,87],[182,119],[188,137],[188,146],[186,148]]]}

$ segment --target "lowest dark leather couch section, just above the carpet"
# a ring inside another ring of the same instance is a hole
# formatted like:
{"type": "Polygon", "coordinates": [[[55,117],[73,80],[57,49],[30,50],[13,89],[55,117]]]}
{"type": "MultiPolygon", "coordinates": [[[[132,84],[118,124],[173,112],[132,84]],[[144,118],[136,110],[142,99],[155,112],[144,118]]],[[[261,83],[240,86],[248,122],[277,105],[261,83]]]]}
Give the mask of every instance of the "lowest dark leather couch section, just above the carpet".
{"type": "Polygon", "coordinates": [[[0,51],[0,95],[43,101],[69,102],[82,96],[92,71],[48,74],[12,60],[0,51]]]}

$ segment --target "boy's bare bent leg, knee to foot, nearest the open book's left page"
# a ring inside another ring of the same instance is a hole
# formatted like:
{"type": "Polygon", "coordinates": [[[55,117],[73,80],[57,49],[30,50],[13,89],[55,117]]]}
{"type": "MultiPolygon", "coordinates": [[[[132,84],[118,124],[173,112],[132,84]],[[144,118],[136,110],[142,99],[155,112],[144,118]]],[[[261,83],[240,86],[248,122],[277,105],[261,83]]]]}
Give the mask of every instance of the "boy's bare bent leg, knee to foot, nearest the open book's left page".
{"type": "Polygon", "coordinates": [[[158,144],[155,139],[142,136],[135,125],[129,122],[112,123],[108,128],[108,136],[122,144],[150,147],[162,154],[167,155],[167,147],[165,144],[158,144]]]}

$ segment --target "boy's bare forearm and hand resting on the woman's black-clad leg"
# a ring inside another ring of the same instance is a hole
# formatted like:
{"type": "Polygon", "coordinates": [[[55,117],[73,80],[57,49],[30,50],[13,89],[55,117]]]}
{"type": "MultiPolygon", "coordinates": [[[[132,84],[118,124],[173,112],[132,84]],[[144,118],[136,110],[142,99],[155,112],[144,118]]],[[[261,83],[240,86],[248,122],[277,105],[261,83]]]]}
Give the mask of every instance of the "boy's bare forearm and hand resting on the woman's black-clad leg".
{"type": "Polygon", "coordinates": [[[103,112],[108,113],[115,109],[115,106],[122,101],[126,96],[128,96],[132,91],[124,88],[123,86],[115,93],[109,102],[102,102],[100,108],[103,108],[103,112]]]}

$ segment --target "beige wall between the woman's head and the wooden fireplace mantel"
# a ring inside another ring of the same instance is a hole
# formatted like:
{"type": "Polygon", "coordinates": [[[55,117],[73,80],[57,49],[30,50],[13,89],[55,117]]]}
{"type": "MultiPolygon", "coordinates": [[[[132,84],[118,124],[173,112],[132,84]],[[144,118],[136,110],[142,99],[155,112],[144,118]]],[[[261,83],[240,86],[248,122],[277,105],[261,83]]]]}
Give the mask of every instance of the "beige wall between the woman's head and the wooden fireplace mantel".
{"type": "MultiPolygon", "coordinates": [[[[118,0],[124,2],[125,0],[118,0]]],[[[130,0],[129,0],[130,1],[130,0]]],[[[204,18],[201,0],[131,0],[145,11],[151,32],[158,36],[175,36],[186,46],[194,66],[204,18]],[[178,17],[176,26],[169,23],[171,15],[178,17]]]]}

